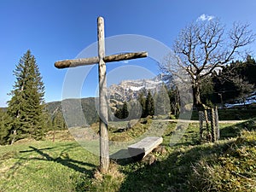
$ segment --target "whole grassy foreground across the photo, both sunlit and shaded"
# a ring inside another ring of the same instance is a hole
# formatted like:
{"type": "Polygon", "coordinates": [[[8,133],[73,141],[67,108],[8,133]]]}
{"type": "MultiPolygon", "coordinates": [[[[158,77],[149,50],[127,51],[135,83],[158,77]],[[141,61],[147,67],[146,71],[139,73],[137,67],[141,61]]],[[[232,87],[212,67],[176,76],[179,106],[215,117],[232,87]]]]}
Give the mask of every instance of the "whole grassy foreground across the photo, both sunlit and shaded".
{"type": "Polygon", "coordinates": [[[45,141],[0,146],[0,191],[255,191],[256,119],[221,124],[217,143],[199,143],[199,125],[189,124],[173,146],[172,135],[182,132],[173,122],[149,120],[117,131],[126,123],[111,125],[110,138],[129,140],[166,125],[166,153],[154,152],[156,161],[150,166],[117,160],[102,174],[96,155],[68,138],[67,131],[58,132],[55,143],[49,135],[45,141]]]}

